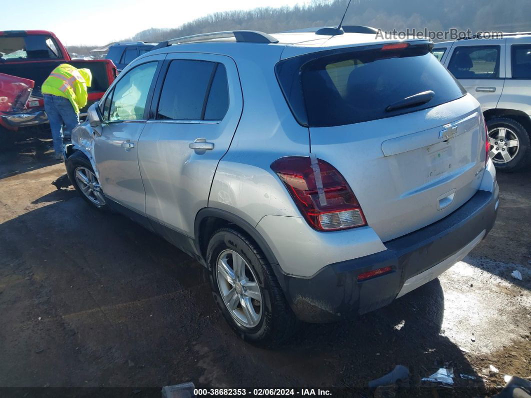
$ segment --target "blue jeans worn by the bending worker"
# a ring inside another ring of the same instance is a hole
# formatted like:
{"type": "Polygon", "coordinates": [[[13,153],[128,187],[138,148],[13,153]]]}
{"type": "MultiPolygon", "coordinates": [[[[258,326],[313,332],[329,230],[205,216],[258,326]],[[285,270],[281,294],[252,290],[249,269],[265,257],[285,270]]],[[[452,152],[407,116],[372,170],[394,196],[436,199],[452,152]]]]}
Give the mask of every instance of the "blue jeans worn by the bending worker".
{"type": "Polygon", "coordinates": [[[62,155],[63,140],[70,140],[72,129],[79,124],[79,115],[74,112],[70,100],[50,94],[44,95],[44,110],[52,130],[55,155],[62,155]]]}

